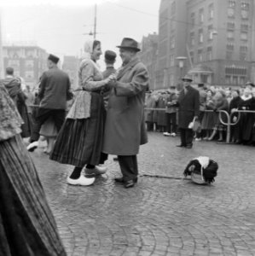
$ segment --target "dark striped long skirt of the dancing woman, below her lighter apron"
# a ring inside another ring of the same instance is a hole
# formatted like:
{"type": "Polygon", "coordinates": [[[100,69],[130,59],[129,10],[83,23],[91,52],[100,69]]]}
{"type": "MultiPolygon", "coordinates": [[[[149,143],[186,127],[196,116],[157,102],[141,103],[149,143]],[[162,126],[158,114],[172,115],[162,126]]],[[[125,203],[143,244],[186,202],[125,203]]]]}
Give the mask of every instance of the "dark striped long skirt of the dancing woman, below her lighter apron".
{"type": "Polygon", "coordinates": [[[90,118],[66,119],[50,154],[51,160],[78,167],[100,163],[106,113],[102,96],[91,95],[90,118]]]}

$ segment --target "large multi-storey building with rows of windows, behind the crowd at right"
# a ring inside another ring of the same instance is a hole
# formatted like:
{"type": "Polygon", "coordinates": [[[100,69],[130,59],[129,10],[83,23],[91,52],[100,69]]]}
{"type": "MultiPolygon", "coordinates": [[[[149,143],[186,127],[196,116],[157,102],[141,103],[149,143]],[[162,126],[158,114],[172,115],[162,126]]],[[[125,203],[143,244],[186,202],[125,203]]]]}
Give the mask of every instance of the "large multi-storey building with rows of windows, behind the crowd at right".
{"type": "Polygon", "coordinates": [[[177,84],[185,73],[195,83],[255,82],[254,2],[161,0],[156,87],[177,84]]]}

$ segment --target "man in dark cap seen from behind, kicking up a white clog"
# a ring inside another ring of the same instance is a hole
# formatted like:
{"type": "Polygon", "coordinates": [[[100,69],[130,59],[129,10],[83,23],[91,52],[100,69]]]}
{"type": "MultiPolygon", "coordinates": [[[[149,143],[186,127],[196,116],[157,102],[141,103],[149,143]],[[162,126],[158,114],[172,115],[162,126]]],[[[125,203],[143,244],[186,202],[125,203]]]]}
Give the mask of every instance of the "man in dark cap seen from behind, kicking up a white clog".
{"type": "Polygon", "coordinates": [[[31,143],[27,146],[29,151],[38,147],[40,128],[50,117],[53,118],[57,131],[61,130],[66,116],[67,101],[72,99],[70,79],[67,73],[57,67],[58,61],[57,56],[49,55],[47,61],[49,70],[44,72],[40,79],[38,125],[36,125],[37,131],[32,132],[31,143]]]}

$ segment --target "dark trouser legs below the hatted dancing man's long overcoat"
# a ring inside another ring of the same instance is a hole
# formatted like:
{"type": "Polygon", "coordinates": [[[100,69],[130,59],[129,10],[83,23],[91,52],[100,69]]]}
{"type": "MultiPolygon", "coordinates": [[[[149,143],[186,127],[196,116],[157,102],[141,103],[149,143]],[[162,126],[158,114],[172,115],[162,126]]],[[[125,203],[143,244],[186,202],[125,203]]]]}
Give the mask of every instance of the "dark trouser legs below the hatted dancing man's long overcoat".
{"type": "Polygon", "coordinates": [[[138,175],[136,155],[118,155],[118,160],[124,182],[135,181],[138,175]]]}

